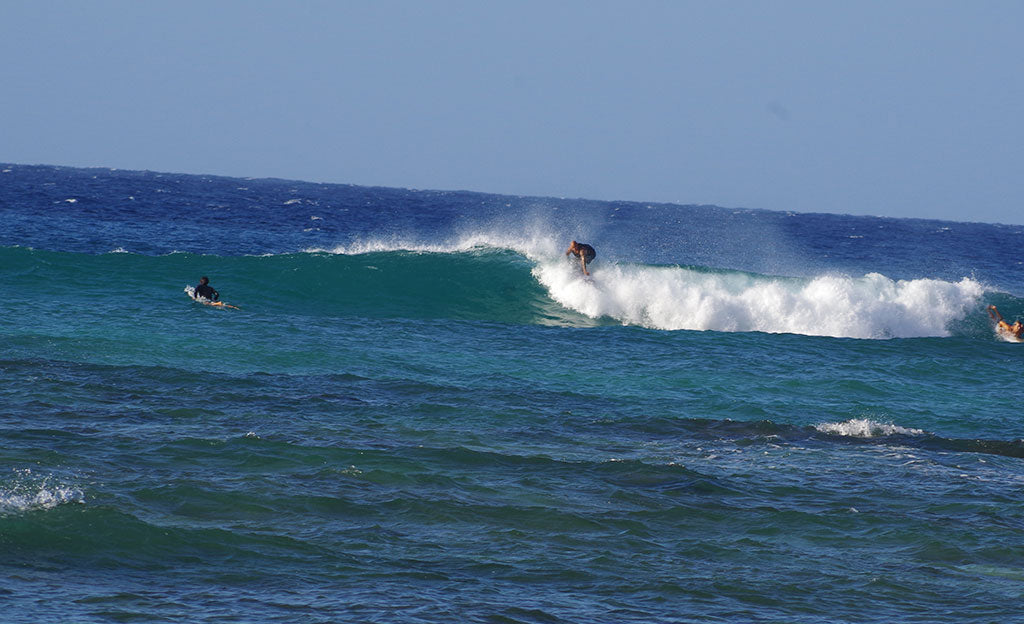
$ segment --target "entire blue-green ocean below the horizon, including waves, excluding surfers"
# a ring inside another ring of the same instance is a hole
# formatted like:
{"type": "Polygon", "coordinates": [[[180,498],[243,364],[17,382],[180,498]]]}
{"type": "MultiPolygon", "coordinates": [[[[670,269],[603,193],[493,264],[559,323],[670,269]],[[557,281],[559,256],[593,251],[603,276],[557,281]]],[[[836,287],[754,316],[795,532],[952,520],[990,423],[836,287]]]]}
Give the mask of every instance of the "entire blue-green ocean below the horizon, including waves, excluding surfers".
{"type": "Polygon", "coordinates": [[[1024,225],[0,165],[0,620],[1019,621],[1022,261],[1024,225]]]}

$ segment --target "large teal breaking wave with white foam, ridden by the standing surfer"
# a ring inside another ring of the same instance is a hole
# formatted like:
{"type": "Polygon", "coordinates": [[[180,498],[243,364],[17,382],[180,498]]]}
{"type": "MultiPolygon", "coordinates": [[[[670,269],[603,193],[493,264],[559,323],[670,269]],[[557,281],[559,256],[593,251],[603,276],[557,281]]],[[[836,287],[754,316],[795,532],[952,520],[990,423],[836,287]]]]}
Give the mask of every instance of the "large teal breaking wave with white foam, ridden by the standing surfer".
{"type": "Polygon", "coordinates": [[[221,298],[257,314],[450,319],[510,324],[634,325],[658,330],[793,333],[849,338],[990,337],[984,303],[1010,319],[1024,300],[971,278],[812,278],[598,258],[593,279],[552,252],[494,246],[371,246],[267,256],[100,255],[0,248],[18,295],[74,305],[137,297],[185,305],[207,275],[221,298]]]}

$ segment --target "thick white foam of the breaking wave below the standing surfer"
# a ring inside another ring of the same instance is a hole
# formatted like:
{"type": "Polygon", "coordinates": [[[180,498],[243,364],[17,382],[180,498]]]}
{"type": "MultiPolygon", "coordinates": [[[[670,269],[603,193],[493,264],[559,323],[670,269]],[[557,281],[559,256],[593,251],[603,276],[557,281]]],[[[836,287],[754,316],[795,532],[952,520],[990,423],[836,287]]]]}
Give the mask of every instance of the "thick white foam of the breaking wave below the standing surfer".
{"type": "Polygon", "coordinates": [[[562,305],[592,318],[663,330],[759,331],[848,338],[948,336],[978,304],[971,279],[771,278],[679,266],[594,266],[593,281],[547,261],[535,277],[562,305]]]}

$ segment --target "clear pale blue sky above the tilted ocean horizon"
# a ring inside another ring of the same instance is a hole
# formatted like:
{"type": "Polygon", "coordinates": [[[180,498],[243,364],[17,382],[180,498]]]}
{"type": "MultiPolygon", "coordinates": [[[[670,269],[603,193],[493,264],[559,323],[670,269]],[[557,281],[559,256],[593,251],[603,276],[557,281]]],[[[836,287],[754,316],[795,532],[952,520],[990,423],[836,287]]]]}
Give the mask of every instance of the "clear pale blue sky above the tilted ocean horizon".
{"type": "Polygon", "coordinates": [[[1024,223],[1024,2],[0,0],[0,162],[1024,223]]]}

